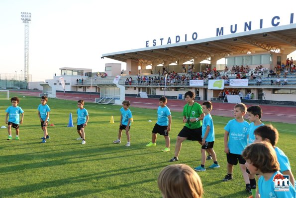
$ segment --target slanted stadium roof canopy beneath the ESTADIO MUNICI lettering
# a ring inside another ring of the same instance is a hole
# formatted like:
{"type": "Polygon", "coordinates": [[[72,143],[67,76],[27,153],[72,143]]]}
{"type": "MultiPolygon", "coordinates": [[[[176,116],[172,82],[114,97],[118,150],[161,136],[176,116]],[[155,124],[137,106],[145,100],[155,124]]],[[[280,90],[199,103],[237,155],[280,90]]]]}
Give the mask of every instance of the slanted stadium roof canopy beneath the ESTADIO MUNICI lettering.
{"type": "MultiPolygon", "coordinates": [[[[296,24],[250,30],[206,39],[102,54],[102,57],[126,62],[134,59],[142,64],[176,63],[194,58],[208,59],[228,55],[273,51],[290,54],[296,50],[296,24]]],[[[182,63],[179,63],[182,64],[182,63]]]]}

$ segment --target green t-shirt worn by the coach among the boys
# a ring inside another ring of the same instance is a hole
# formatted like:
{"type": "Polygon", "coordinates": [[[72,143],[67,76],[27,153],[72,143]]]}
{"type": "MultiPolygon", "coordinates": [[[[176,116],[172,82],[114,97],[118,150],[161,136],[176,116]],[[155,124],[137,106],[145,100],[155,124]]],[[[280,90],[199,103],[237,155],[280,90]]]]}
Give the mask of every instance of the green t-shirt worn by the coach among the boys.
{"type": "MultiPolygon", "coordinates": [[[[185,116],[187,119],[188,117],[189,119],[192,119],[199,118],[201,114],[203,114],[201,105],[197,102],[194,102],[192,106],[189,106],[188,104],[184,106],[182,115],[185,116]]],[[[185,123],[185,126],[189,129],[197,129],[202,126],[202,122],[201,120],[197,122],[187,122],[185,123]]]]}

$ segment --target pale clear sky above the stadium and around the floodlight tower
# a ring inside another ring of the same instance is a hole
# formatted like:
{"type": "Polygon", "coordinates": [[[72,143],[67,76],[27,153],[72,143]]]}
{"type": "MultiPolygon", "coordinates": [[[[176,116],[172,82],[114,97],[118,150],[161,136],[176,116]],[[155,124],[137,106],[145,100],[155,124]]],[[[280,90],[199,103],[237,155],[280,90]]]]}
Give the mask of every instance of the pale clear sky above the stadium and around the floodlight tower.
{"type": "Polygon", "coordinates": [[[144,48],[146,40],[193,32],[198,39],[215,37],[217,27],[237,23],[243,31],[244,22],[258,26],[261,18],[270,27],[275,15],[289,24],[295,8],[293,0],[0,0],[0,73],[24,70],[20,12],[32,16],[29,73],[44,81],[60,67],[103,71],[105,63],[118,61],[101,54],[144,48]]]}

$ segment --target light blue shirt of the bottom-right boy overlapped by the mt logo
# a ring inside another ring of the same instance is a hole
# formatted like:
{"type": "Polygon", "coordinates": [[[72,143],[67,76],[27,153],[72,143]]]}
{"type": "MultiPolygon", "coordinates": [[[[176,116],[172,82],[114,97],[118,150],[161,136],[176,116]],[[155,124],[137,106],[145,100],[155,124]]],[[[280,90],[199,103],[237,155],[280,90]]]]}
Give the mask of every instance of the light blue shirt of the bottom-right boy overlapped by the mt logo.
{"type": "Polygon", "coordinates": [[[277,171],[268,181],[265,181],[261,176],[258,180],[258,190],[261,198],[295,198],[295,188],[289,182],[289,191],[275,191],[274,177],[277,174],[281,174],[277,171]]]}

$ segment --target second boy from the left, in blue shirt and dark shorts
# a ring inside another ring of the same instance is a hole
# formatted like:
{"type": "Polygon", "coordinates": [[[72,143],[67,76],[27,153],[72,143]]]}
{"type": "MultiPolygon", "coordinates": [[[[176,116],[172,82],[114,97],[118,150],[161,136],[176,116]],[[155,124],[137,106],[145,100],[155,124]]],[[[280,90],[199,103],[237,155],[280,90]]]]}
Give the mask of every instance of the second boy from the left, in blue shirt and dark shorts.
{"type": "Polygon", "coordinates": [[[46,104],[48,101],[47,96],[41,97],[41,104],[39,104],[37,110],[38,110],[38,117],[41,122],[41,129],[44,132],[44,136],[41,138],[41,143],[46,143],[46,139],[49,139],[49,135],[47,133],[47,125],[49,122],[49,112],[50,108],[46,104]]]}

